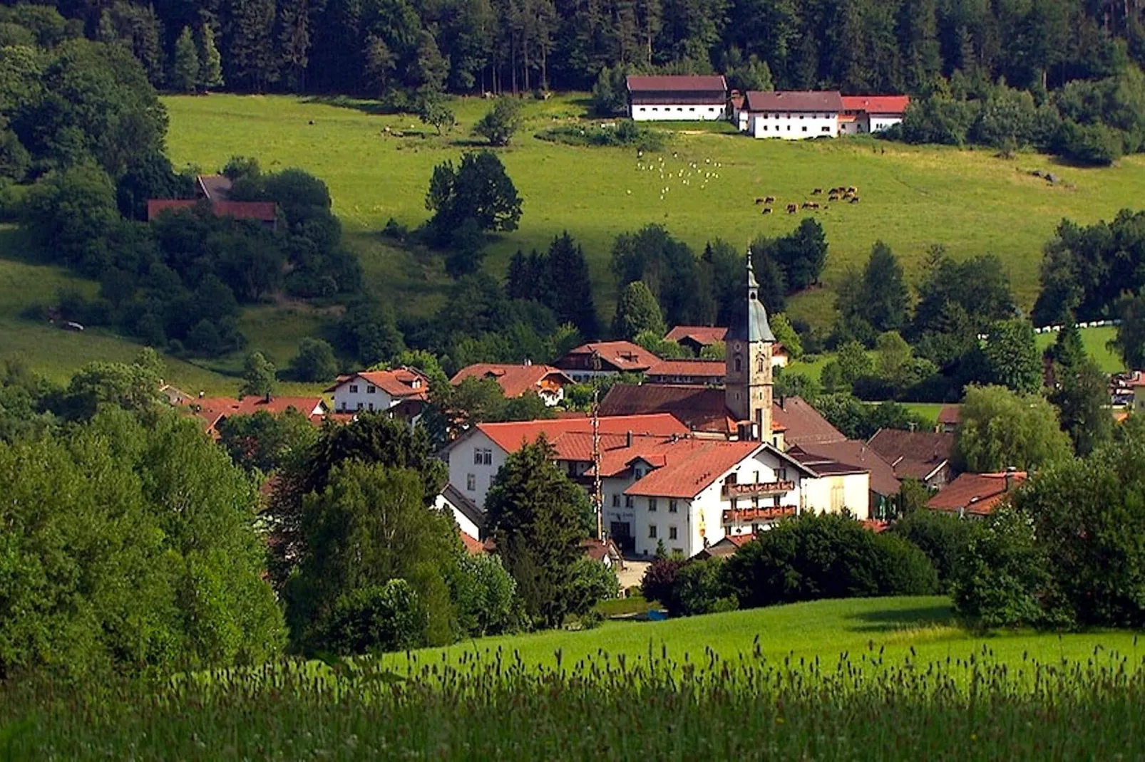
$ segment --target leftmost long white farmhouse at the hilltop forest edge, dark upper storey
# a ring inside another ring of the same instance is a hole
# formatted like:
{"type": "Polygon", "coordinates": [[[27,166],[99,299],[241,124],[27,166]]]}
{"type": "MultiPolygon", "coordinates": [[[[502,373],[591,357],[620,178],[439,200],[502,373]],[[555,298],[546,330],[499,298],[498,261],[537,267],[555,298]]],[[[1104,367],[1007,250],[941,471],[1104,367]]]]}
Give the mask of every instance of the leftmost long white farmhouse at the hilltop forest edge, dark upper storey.
{"type": "Polygon", "coordinates": [[[727,81],[720,74],[627,78],[629,116],[635,121],[712,121],[727,110],[727,81]]]}

